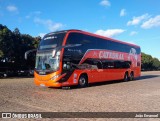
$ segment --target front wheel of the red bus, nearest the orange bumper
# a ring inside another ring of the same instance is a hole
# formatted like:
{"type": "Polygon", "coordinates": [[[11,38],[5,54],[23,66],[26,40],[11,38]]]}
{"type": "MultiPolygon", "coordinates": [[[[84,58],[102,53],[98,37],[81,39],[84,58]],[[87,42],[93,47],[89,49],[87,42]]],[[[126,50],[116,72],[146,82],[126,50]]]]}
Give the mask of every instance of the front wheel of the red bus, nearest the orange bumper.
{"type": "Polygon", "coordinates": [[[88,84],[87,77],[85,75],[81,75],[78,80],[78,87],[83,88],[88,84]]]}

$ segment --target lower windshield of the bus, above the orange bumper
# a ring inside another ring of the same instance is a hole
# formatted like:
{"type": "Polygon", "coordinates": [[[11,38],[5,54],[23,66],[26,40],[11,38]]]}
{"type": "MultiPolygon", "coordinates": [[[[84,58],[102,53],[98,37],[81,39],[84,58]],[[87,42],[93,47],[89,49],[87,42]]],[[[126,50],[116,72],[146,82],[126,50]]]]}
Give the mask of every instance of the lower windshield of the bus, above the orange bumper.
{"type": "Polygon", "coordinates": [[[36,55],[36,66],[37,71],[57,71],[59,69],[59,57],[52,57],[52,53],[39,53],[36,55]]]}

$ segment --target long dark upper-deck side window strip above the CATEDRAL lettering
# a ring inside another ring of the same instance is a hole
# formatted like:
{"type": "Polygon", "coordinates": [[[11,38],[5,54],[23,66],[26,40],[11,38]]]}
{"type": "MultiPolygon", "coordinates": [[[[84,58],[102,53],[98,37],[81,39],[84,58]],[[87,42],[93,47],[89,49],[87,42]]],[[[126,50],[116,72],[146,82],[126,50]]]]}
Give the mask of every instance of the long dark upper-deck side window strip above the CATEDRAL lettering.
{"type": "Polygon", "coordinates": [[[131,48],[136,49],[136,53],[140,54],[140,48],[110,40],[105,40],[81,33],[70,33],[66,44],[82,44],[81,49],[107,49],[129,53],[131,48]]]}

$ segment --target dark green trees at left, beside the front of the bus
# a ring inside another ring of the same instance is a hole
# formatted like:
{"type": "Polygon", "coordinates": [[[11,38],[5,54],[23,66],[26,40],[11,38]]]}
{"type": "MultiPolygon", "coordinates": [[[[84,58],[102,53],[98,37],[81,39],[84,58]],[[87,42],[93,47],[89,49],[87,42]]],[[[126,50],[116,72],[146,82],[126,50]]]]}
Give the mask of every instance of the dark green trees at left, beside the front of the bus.
{"type": "Polygon", "coordinates": [[[0,61],[12,62],[16,68],[31,66],[34,68],[35,53],[26,61],[24,54],[27,50],[38,47],[40,37],[32,37],[21,34],[18,28],[12,32],[6,26],[0,24],[0,61]]]}

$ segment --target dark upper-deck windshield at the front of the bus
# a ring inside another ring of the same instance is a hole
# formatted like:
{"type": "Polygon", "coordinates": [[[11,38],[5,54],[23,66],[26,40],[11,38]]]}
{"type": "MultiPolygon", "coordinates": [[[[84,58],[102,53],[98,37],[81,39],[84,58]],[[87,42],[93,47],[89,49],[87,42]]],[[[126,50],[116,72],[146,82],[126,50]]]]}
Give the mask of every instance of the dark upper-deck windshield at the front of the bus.
{"type": "Polygon", "coordinates": [[[58,46],[62,46],[62,42],[65,36],[65,32],[51,33],[43,37],[40,42],[39,50],[53,49],[58,46]]]}

